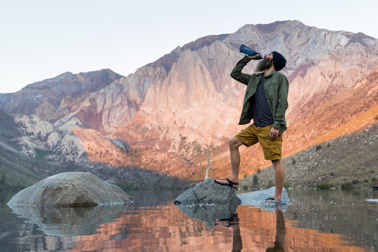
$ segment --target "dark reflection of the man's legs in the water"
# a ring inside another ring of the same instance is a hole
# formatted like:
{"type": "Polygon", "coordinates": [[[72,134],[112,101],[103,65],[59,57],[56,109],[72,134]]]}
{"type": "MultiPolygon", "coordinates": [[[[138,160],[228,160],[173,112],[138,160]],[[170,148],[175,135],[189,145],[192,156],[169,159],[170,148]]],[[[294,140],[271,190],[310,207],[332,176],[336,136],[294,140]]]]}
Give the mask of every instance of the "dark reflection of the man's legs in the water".
{"type": "MultiPolygon", "coordinates": [[[[286,235],[285,219],[283,218],[281,207],[277,207],[274,210],[276,212],[276,241],[274,241],[274,247],[268,247],[265,252],[284,252],[286,235]]],[[[240,236],[238,214],[233,213],[231,218],[220,219],[215,221],[214,224],[232,228],[232,252],[240,252],[243,244],[242,237],[240,236]]]]}

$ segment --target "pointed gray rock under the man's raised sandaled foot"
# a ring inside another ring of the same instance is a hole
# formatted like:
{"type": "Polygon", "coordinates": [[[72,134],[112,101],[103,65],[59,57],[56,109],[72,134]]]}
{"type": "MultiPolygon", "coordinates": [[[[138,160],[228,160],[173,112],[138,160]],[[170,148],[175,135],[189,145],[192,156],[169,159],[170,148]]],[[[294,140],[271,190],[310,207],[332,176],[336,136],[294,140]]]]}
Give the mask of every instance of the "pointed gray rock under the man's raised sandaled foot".
{"type": "Polygon", "coordinates": [[[207,178],[195,187],[192,187],[173,202],[178,204],[231,204],[239,206],[242,201],[236,196],[234,190],[228,186],[222,186],[207,178]]]}

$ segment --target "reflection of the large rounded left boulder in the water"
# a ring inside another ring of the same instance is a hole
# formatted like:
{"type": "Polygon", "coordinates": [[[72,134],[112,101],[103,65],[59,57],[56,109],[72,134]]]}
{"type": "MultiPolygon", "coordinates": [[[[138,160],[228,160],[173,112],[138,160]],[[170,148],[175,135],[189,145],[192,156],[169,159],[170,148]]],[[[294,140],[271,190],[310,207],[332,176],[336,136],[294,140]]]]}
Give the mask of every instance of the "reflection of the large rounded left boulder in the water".
{"type": "Polygon", "coordinates": [[[97,207],[36,207],[9,205],[25,223],[36,224],[46,235],[81,236],[93,235],[101,224],[114,221],[129,205],[97,207]]]}

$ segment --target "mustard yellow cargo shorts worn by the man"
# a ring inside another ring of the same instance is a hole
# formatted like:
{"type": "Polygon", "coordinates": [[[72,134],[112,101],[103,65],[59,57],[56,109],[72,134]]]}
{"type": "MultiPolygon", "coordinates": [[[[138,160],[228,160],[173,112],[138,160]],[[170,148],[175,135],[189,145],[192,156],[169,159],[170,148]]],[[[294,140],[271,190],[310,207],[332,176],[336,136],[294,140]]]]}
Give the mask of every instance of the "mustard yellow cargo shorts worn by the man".
{"type": "Polygon", "coordinates": [[[256,125],[251,124],[237,133],[235,138],[242,141],[246,147],[259,142],[266,160],[282,159],[282,135],[278,136],[276,140],[271,141],[269,133],[272,126],[273,124],[265,127],[256,127],[256,125]]]}

